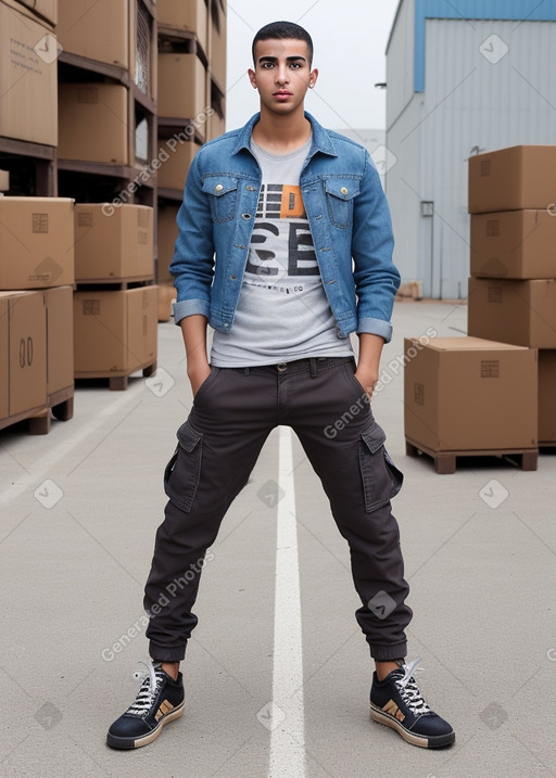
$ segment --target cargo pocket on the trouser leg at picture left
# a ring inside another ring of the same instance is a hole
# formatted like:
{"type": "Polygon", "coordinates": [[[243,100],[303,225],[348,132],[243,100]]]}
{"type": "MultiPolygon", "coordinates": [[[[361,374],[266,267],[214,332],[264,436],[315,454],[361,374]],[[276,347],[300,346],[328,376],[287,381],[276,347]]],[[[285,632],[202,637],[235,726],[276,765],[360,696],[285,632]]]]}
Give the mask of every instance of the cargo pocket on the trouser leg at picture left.
{"type": "Polygon", "coordinates": [[[164,471],[164,492],[189,513],[199,487],[203,436],[186,421],[177,432],[178,445],[164,471]]]}

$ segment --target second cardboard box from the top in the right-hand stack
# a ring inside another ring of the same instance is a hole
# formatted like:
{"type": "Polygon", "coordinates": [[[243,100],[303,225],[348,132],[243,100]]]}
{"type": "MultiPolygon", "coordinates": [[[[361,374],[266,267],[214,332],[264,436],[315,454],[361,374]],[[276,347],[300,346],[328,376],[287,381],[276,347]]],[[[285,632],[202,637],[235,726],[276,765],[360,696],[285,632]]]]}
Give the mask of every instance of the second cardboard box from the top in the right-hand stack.
{"type": "Polygon", "coordinates": [[[471,276],[556,278],[556,213],[472,214],[471,276]]]}

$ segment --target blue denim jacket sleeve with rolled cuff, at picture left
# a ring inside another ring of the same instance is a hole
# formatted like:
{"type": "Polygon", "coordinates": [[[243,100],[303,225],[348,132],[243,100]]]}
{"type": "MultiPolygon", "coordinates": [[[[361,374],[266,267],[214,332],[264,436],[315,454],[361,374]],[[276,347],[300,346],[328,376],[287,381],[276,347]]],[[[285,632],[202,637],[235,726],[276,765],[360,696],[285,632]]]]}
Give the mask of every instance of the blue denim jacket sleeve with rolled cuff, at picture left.
{"type": "Polygon", "coordinates": [[[177,291],[176,324],[186,316],[210,316],[214,238],[211,206],[202,188],[201,154],[202,150],[193,157],[187,176],[184,202],[177,215],[178,237],[169,266],[177,291]]]}

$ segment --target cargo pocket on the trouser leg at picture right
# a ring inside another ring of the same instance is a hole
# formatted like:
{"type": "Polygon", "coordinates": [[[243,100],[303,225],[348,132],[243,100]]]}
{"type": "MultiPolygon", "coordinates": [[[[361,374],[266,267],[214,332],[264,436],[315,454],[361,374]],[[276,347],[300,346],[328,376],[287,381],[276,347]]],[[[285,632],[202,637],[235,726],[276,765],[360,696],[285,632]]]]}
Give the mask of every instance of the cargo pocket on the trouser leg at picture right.
{"type": "Polygon", "coordinates": [[[404,476],[384,448],[386,439],[378,424],[361,436],[359,467],[367,513],[386,506],[402,488],[404,476]]]}

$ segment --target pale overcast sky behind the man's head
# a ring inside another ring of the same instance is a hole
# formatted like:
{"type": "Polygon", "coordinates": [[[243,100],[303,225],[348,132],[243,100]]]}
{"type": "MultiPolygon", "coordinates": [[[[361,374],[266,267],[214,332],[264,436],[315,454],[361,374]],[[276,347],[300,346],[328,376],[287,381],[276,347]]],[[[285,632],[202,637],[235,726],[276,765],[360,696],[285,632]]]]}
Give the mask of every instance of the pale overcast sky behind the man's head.
{"type": "Polygon", "coordinates": [[[249,84],[251,42],[268,22],[296,22],[313,38],[319,71],[305,106],[331,129],[383,129],[386,48],[399,0],[228,0],[226,128],[243,125],[258,110],[249,84]]]}

